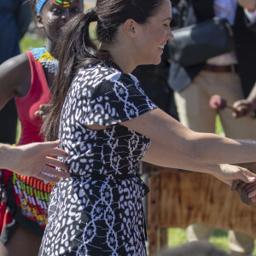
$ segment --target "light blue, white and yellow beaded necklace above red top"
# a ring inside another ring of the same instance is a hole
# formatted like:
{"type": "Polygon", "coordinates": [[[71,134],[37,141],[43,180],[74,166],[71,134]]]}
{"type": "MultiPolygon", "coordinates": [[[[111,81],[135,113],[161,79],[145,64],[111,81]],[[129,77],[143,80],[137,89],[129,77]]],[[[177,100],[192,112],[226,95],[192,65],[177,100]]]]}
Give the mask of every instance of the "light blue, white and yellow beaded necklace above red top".
{"type": "Polygon", "coordinates": [[[35,59],[41,63],[48,73],[57,73],[59,61],[45,47],[33,48],[32,55],[34,55],[35,59]]]}

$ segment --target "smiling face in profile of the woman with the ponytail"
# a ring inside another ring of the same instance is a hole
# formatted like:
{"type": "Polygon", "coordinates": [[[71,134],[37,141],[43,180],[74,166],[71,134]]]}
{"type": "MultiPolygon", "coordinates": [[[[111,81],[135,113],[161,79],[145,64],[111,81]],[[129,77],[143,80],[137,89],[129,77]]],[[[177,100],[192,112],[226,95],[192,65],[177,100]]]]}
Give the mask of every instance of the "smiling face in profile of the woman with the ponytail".
{"type": "Polygon", "coordinates": [[[134,38],[138,65],[160,63],[167,41],[173,39],[171,20],[172,4],[170,0],[163,0],[157,13],[138,26],[138,34],[134,38]]]}

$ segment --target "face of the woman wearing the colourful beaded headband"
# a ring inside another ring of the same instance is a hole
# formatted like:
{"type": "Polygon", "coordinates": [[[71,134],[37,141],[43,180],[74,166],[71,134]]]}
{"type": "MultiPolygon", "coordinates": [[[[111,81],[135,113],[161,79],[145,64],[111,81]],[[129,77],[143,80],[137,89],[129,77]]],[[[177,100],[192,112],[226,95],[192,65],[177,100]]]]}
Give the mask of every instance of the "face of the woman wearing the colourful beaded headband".
{"type": "Polygon", "coordinates": [[[77,0],[66,8],[55,5],[49,0],[44,3],[40,15],[37,15],[37,25],[38,27],[44,27],[46,37],[50,41],[55,42],[60,37],[61,27],[67,23],[67,20],[83,12],[82,1],[77,0]]]}

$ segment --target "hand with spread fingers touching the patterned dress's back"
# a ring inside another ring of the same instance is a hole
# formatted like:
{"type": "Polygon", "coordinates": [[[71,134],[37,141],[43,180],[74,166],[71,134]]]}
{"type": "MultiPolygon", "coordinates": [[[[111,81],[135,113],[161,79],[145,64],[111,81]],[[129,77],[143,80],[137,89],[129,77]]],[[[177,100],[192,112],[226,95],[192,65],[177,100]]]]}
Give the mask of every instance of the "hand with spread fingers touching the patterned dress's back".
{"type": "Polygon", "coordinates": [[[57,183],[58,177],[70,177],[68,172],[56,170],[56,166],[64,171],[68,170],[68,166],[55,159],[56,156],[67,157],[67,153],[56,148],[61,141],[46,142],[46,143],[31,143],[15,147],[15,154],[13,156],[9,170],[20,175],[38,177],[47,182],[57,183]],[[44,168],[44,172],[43,171],[44,168]],[[48,176],[53,175],[54,177],[48,176]]]}

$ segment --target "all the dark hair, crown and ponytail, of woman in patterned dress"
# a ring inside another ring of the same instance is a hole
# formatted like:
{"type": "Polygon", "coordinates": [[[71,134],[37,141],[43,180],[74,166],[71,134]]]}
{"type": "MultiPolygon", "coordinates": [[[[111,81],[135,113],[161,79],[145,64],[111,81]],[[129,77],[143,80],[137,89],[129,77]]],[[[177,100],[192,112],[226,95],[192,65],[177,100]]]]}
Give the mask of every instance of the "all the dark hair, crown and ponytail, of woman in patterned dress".
{"type": "Polygon", "coordinates": [[[96,44],[90,39],[90,23],[97,21],[97,40],[100,43],[111,44],[119,25],[125,23],[125,20],[133,19],[143,24],[157,12],[163,1],[97,0],[96,8],[76,15],[67,22],[55,51],[59,68],[54,82],[54,95],[49,102],[49,110],[42,127],[46,140],[55,140],[58,137],[61,109],[79,67],[88,67],[96,63],[117,67],[107,50],[96,49],[96,44]]]}

